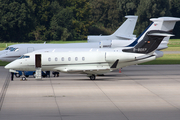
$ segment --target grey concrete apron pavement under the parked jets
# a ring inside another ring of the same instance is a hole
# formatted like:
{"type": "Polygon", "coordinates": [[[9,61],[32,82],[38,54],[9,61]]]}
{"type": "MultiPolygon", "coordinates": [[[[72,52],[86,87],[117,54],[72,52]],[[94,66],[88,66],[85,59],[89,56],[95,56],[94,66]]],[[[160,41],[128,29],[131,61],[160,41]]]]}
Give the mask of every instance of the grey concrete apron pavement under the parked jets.
{"type": "Polygon", "coordinates": [[[180,65],[130,66],[95,81],[64,73],[9,79],[0,67],[0,120],[180,120],[180,65]]]}

